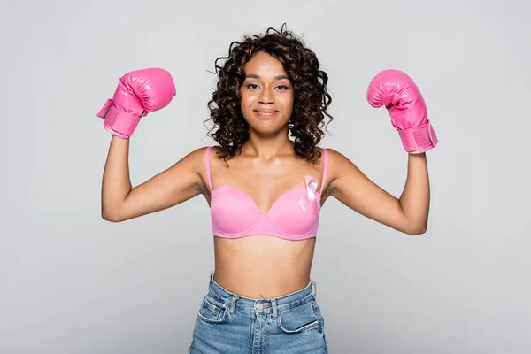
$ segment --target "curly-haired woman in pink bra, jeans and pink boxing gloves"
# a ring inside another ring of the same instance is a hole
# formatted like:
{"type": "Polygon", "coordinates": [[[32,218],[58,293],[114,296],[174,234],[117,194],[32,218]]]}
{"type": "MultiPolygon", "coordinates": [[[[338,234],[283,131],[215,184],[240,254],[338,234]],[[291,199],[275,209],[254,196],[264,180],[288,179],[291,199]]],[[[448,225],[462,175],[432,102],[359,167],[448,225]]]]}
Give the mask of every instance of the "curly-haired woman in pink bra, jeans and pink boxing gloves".
{"type": "MultiPolygon", "coordinates": [[[[327,73],[295,35],[269,29],[233,42],[209,103],[217,146],[191,151],[132,188],[129,137],[169,104],[162,69],[127,73],[98,113],[112,132],[102,216],[123,221],[199,194],[210,204],[215,270],[199,308],[191,353],[326,353],[324,320],[310,278],[319,211],[328,197],[408,235],[427,229],[425,151],[436,137],[419,90],[404,73],[376,75],[367,99],[385,105],[408,151],[400,198],[341,153],[319,148],[331,97],[327,73]]],[[[218,59],[218,60],[219,60],[218,59]]]]}

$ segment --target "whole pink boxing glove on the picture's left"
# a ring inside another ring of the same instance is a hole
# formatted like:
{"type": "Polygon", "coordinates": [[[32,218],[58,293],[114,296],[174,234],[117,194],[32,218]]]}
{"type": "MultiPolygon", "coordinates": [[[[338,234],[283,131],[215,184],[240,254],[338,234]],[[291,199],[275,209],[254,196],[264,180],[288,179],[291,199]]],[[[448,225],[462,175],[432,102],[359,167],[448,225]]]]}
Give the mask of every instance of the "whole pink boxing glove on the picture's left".
{"type": "Polygon", "coordinates": [[[113,135],[127,139],[142,117],[163,109],[175,94],[172,75],[164,69],[136,70],[119,78],[114,96],[96,116],[104,118],[104,128],[113,135]]]}

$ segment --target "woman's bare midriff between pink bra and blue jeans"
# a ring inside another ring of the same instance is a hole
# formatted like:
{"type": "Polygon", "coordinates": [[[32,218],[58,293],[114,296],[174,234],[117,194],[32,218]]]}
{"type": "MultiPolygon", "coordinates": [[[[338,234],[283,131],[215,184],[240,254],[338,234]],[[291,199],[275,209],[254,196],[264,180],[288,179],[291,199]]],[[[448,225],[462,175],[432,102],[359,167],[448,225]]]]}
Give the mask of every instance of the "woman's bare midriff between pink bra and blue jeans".
{"type": "Polygon", "coordinates": [[[301,241],[266,235],[214,237],[214,281],[252,299],[288,295],[308,285],[314,248],[315,237],[301,241]]]}

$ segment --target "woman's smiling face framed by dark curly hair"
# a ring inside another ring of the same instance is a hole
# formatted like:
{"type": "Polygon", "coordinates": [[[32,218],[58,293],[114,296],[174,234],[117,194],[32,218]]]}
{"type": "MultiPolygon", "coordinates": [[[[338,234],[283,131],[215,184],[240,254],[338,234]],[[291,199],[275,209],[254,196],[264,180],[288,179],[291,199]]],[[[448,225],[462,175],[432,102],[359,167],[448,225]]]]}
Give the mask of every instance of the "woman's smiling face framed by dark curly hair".
{"type": "Polygon", "coordinates": [[[258,52],[244,65],[244,71],[240,105],[250,129],[266,135],[287,131],[295,95],[281,62],[258,52]]]}

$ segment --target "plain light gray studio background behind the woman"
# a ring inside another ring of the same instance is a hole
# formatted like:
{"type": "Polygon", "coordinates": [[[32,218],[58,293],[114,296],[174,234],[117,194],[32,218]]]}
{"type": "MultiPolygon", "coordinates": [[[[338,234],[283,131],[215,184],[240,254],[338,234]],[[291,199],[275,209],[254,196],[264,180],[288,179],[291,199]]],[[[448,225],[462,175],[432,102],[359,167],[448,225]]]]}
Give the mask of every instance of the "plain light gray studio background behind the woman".
{"type": "Polygon", "coordinates": [[[325,204],[312,278],[330,352],[531,352],[530,11],[523,0],[2,2],[0,352],[187,352],[213,267],[209,209],[200,196],[101,219],[110,135],[95,114],[121,74],[173,73],[173,103],[131,141],[141,183],[212,143],[214,59],[283,22],[330,75],[322,146],[400,195],[407,155],[365,97],[389,67],[417,82],[441,141],[427,154],[425,235],[325,204]]]}

